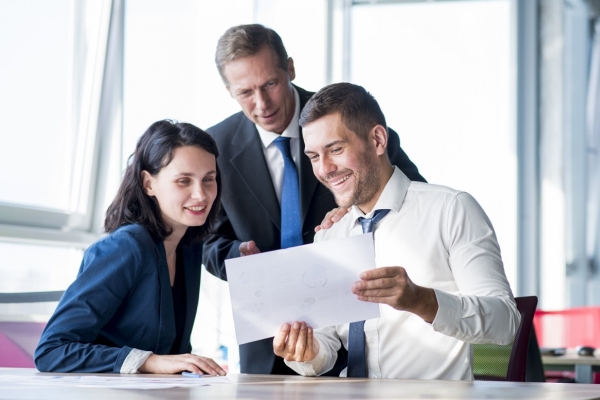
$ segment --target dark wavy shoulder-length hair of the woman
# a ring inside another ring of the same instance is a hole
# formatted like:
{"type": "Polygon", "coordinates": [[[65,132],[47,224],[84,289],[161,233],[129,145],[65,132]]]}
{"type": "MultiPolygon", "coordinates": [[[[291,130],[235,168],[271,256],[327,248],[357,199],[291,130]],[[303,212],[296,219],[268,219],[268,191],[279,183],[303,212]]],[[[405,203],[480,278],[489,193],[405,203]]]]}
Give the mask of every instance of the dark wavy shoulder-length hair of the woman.
{"type": "MultiPolygon", "coordinates": [[[[129,156],[127,169],[117,196],[106,211],[104,230],[107,233],[123,225],[140,224],[155,239],[164,240],[172,232],[165,224],[158,202],[144,191],[142,171],[156,176],[173,159],[179,147],[196,146],[216,157],[219,150],[214,139],[202,129],[188,123],[171,120],[157,121],[150,125],[138,139],[135,151],[129,156]]],[[[182,239],[184,243],[201,241],[215,222],[221,199],[221,173],[217,165],[217,196],[202,226],[189,227],[182,239]]]]}

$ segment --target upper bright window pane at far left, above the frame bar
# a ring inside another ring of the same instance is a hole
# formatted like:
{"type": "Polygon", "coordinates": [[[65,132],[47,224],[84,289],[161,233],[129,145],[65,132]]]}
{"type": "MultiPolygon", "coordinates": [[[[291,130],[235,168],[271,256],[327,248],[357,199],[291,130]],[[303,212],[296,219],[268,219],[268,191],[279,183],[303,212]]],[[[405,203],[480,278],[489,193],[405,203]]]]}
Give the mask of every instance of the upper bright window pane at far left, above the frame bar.
{"type": "Polygon", "coordinates": [[[107,3],[0,2],[0,202],[87,211],[107,3]]]}

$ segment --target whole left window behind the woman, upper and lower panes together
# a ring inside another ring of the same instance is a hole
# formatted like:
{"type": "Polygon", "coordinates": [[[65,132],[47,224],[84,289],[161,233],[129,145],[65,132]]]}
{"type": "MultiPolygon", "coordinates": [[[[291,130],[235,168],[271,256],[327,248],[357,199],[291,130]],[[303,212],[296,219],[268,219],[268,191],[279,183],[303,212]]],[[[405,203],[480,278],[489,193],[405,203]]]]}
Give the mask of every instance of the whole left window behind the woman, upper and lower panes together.
{"type": "Polygon", "coordinates": [[[83,232],[110,3],[0,0],[2,292],[65,290],[94,236],[83,232]]]}

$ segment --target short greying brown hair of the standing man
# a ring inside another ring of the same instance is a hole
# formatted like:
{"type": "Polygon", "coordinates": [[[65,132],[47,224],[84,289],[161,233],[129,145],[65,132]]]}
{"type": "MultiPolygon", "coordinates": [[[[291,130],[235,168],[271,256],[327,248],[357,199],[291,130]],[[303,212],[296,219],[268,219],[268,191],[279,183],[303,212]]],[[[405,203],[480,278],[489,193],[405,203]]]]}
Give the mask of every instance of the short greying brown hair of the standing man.
{"type": "Polygon", "coordinates": [[[275,52],[279,67],[287,71],[287,51],[281,37],[273,29],[260,24],[237,25],[227,29],[219,38],[215,53],[215,64],[223,82],[228,83],[223,74],[223,69],[228,62],[253,56],[264,46],[269,46],[275,52]]]}

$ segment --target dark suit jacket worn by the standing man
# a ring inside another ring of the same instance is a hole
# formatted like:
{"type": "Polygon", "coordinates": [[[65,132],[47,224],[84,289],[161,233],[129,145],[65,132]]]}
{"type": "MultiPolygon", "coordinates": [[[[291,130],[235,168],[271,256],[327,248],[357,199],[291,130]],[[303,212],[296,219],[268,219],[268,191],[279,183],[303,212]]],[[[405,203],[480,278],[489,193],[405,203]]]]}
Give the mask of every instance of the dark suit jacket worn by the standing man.
{"type": "MultiPolygon", "coordinates": [[[[297,86],[296,90],[300,95],[302,110],[313,93],[297,86]]],[[[214,233],[205,240],[202,261],[210,273],[226,280],[224,260],[240,256],[241,242],[254,240],[261,252],[281,248],[281,211],[254,123],[240,111],[209,128],[208,133],[214,137],[219,147],[217,163],[223,190],[221,211],[214,233]]],[[[302,134],[300,146],[302,152],[302,134]]],[[[391,129],[388,155],[391,162],[410,179],[425,181],[400,148],[400,139],[391,129]]],[[[304,243],[312,243],[315,226],[337,204],[333,194],[314,176],[308,157],[301,157],[299,176],[302,238],[304,243]]],[[[240,366],[243,373],[268,374],[274,360],[272,339],[240,346],[240,366]]]]}

